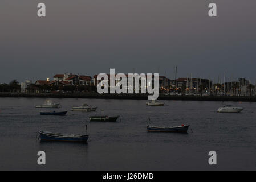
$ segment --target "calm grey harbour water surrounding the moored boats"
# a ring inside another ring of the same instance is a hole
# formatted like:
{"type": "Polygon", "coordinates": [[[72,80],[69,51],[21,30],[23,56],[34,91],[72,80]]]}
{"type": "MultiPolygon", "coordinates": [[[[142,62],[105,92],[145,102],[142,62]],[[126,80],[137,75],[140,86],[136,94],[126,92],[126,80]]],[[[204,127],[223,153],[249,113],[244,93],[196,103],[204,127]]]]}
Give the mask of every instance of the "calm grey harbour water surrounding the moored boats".
{"type": "Polygon", "coordinates": [[[0,98],[0,169],[256,169],[256,103],[225,102],[246,110],[217,113],[222,102],[164,101],[166,106],[152,107],[144,100],[53,100],[61,110],[83,103],[99,109],[41,116],[40,110],[52,110],[34,108],[43,98],[0,98]],[[87,144],[35,140],[39,130],[85,133],[86,119],[97,114],[121,115],[121,121],[88,122],[87,144]],[[149,123],[189,124],[193,133],[148,133],[149,123]],[[46,152],[45,166],[37,164],[39,150],[46,152]],[[217,152],[216,166],[208,164],[211,150],[217,152]]]}

